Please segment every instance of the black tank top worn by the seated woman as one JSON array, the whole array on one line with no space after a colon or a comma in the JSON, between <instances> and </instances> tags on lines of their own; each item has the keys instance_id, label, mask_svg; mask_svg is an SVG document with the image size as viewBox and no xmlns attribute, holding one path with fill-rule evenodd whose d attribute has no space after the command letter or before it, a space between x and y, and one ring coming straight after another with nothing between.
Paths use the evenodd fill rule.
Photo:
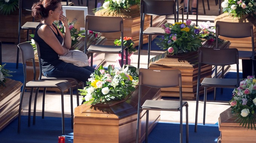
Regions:
<instances>
[{"instance_id":1,"label":"black tank top worn by the seated woman","mask_svg":"<svg viewBox=\"0 0 256 143\"><path fill-rule=\"evenodd\" d=\"M42 72L44 73L49 70L52 70L55 66L57 66L58 64L60 64L63 61L59 60L58 54L46 42L44 42L44 40L41 39L41 37L38 36L37 31L42 25L44 25L44 24L42 23L37 26L37 29L35 31L35 36L33 39L35 41L37 41L37 43L40 46ZM47 26L49 26L49 25L47 25ZM55 27L55 29L57 30L57 27L54 24L53 24L53 27ZM59 31L57 30L57 34L54 31L53 31L53 33L55 34L55 36L57 37L59 42L62 43L63 38L59 34Z\"/></svg>"}]
</instances>

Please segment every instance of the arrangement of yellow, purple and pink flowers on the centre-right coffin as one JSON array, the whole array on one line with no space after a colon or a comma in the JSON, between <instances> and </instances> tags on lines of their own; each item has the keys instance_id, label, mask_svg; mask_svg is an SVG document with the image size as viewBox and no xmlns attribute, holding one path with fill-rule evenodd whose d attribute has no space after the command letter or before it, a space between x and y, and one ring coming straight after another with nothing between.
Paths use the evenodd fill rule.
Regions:
<instances>
[{"instance_id":1,"label":"arrangement of yellow, purple and pink flowers on the centre-right coffin","mask_svg":"<svg viewBox=\"0 0 256 143\"><path fill-rule=\"evenodd\" d=\"M182 54L190 51L197 51L202 46L203 40L200 39L201 29L191 24L191 20L175 22L175 24L163 24L165 35L158 38L156 42L162 49L168 49L170 54Z\"/></svg>"}]
</instances>

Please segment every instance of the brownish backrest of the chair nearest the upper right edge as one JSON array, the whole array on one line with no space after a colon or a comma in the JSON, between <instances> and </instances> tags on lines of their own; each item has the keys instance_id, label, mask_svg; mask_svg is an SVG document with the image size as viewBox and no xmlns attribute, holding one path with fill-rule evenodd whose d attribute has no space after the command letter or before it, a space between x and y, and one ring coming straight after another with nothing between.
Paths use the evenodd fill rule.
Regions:
<instances>
[{"instance_id":1,"label":"brownish backrest of the chair nearest the upper right edge","mask_svg":"<svg viewBox=\"0 0 256 143\"><path fill-rule=\"evenodd\" d=\"M254 59L254 36L253 25L250 22L216 22L216 48L218 48L218 36L229 38L245 38L251 37L251 46Z\"/></svg>"}]
</instances>

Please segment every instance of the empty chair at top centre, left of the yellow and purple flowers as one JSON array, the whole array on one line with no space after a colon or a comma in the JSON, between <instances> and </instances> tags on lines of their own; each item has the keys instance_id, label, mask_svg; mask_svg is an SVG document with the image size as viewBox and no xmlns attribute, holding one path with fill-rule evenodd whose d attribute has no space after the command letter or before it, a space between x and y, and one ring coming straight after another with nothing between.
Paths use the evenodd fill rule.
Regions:
<instances>
[{"instance_id":1,"label":"empty chair at top centre, left of the yellow and purple flowers","mask_svg":"<svg viewBox=\"0 0 256 143\"><path fill-rule=\"evenodd\" d=\"M178 2L177 2L178 6ZM183 9L183 6L181 7ZM182 21L184 21L184 10L182 10ZM150 27L144 30L145 15L151 16ZM176 3L174 0L141 0L140 1L140 37L138 50L138 68L140 67L140 50L143 46L143 35L148 35L148 67L150 58L150 48L152 35L164 35L164 30L161 27L152 27L152 15L174 15L174 21L177 22L178 10L176 12Z\"/></svg>"}]
</instances>

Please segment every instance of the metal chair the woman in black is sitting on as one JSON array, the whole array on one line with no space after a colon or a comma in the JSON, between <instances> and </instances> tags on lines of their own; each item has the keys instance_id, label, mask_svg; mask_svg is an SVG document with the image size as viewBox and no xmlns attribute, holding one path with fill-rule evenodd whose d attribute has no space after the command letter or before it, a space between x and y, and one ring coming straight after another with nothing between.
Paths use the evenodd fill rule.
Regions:
<instances>
[{"instance_id":1,"label":"metal chair the woman in black is sitting on","mask_svg":"<svg viewBox=\"0 0 256 143\"><path fill-rule=\"evenodd\" d=\"M72 78L72 77L46 77L46 76L44 76L43 72L42 72L40 46L38 45L38 43L36 41L35 41L35 45L37 47L37 56L38 56L38 63L39 63L39 68L40 68L39 80L71 80L71 81L73 81L71 83L74 83L74 85L76 86L76 102L77 102L77 106L79 106L79 91L78 91L78 89L79 89L79 83L81 83L81 81L78 79ZM82 84L82 86L84 87L84 83ZM42 118L44 117L43 113L44 113L44 103L43 103L43 110L42 110Z\"/></svg>"}]
</instances>

